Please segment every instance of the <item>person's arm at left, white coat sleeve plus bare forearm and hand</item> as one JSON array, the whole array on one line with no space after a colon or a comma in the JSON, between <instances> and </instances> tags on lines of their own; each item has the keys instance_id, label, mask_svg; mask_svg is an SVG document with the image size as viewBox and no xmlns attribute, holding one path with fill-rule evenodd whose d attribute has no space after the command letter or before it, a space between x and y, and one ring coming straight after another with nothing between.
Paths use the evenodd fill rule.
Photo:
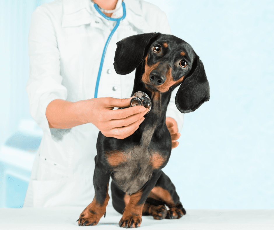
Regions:
<instances>
[{"instance_id":1,"label":"person's arm at left, white coat sleeve plus bare forearm and hand","mask_svg":"<svg viewBox=\"0 0 274 230\"><path fill-rule=\"evenodd\" d=\"M53 10L60 12L52 13ZM57 42L60 25L53 18L53 15L62 15L61 10L42 5L32 14L29 31L30 76L26 87L31 116L50 136L50 128L65 129L93 123L104 135L123 139L138 127L144 115L144 112L137 112L138 107L113 110L113 107L128 107L129 99L67 100L68 97L75 100L75 97L71 97L71 89L68 91L63 84L67 79L60 74L61 57Z\"/></svg>"}]
</instances>

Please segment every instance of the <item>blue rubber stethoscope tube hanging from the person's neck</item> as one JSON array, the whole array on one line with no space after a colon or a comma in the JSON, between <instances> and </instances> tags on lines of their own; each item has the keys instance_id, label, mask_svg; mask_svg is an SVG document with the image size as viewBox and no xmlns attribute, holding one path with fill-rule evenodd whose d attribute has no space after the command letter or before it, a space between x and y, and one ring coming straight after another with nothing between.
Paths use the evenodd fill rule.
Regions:
<instances>
[{"instance_id":1,"label":"blue rubber stethoscope tube hanging from the person's neck","mask_svg":"<svg viewBox=\"0 0 274 230\"><path fill-rule=\"evenodd\" d=\"M102 68L103 68L103 63L104 63L106 51L107 51L107 48L108 48L108 43L109 43L112 35L114 34L115 30L119 26L120 21L123 20L126 17L126 6L125 6L124 2L122 2L122 6L123 6L123 16L121 18L110 18L110 17L106 16L105 14L103 14L101 12L101 10L99 9L97 4L94 4L94 7L95 7L96 11L98 11L98 13L101 14L104 18L106 18L107 20L110 20L110 21L116 21L116 25L113 28L113 30L110 32L110 35L108 36L108 40L106 41L106 44L105 44L105 47L104 47L104 50L103 50L103 54L102 54L102 58L101 58L101 62L100 62L100 67L99 67L99 71L98 71L98 76L97 76L97 80L96 80L94 98L97 98L98 87L99 87L99 82L100 82L100 77L101 77L101 73L102 73Z\"/></svg>"}]
</instances>

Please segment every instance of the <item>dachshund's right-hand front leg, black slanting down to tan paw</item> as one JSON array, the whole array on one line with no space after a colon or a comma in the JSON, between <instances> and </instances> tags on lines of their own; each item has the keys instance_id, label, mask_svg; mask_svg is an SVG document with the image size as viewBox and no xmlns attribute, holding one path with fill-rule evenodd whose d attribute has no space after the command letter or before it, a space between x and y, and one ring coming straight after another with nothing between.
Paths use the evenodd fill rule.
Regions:
<instances>
[{"instance_id":1,"label":"dachshund's right-hand front leg, black slanting down to tan paw","mask_svg":"<svg viewBox=\"0 0 274 230\"><path fill-rule=\"evenodd\" d=\"M150 194L150 191L155 186L161 172L153 173L148 182L145 183L142 189L132 195L126 194L124 197L125 209L123 216L119 222L119 226L123 228L138 228L142 222L143 206Z\"/></svg>"}]
</instances>

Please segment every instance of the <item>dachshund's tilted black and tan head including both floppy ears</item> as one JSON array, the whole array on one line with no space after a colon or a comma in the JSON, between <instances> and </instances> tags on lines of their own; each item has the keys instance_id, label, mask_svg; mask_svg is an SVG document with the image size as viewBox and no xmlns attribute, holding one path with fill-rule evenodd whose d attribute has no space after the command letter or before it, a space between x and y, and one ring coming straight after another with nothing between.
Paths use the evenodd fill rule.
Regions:
<instances>
[{"instance_id":1,"label":"dachshund's tilted black and tan head including both floppy ears","mask_svg":"<svg viewBox=\"0 0 274 230\"><path fill-rule=\"evenodd\" d=\"M138 34L117 42L114 68L129 74L141 63L142 81L150 91L165 93L180 88L175 104L181 113L198 109L209 100L205 69L193 48L182 39L160 33Z\"/></svg>"}]
</instances>

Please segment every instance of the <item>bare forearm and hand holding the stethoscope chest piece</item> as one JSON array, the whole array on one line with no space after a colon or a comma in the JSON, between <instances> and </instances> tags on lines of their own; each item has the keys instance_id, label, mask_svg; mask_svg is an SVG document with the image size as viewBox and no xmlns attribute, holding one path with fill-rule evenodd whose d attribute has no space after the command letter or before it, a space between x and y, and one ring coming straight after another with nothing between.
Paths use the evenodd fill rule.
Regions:
<instances>
[{"instance_id":1,"label":"bare forearm and hand holding the stethoscope chest piece","mask_svg":"<svg viewBox=\"0 0 274 230\"><path fill-rule=\"evenodd\" d=\"M124 139L133 134L144 121L148 109L129 107L130 98L92 98L78 102L56 99L48 104L46 117L50 128L72 128L93 123L106 137ZM129 107L115 109L114 107Z\"/></svg>"}]
</instances>

